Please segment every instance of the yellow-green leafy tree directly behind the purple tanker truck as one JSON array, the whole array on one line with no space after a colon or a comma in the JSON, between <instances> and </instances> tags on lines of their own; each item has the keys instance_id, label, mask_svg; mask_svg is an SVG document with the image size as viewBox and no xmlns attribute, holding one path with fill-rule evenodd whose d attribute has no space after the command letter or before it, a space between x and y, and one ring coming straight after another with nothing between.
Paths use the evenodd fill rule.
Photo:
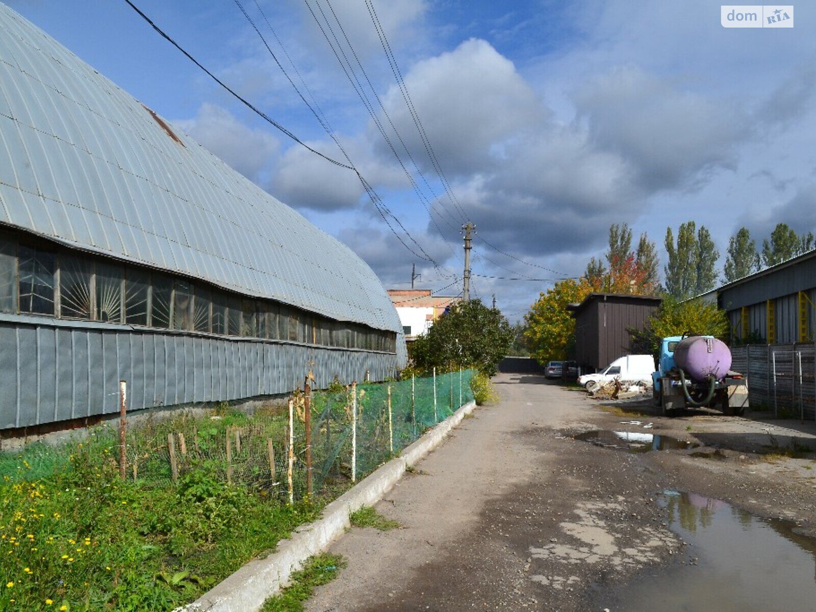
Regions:
<instances>
[{"instance_id":1,"label":"yellow-green leafy tree directly behind the purple tanker truck","mask_svg":"<svg viewBox=\"0 0 816 612\"><path fill-rule=\"evenodd\" d=\"M730 323L725 311L712 302L690 299L680 302L667 297L643 330L629 330L632 353L658 355L660 339L672 335L712 335L727 340Z\"/></svg>"}]
</instances>

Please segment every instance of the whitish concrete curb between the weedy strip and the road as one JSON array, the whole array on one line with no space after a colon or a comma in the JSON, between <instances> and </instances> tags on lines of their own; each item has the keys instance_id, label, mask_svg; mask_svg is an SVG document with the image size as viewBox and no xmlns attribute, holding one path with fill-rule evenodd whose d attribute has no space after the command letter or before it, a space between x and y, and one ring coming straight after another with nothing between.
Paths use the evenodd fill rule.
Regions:
<instances>
[{"instance_id":1,"label":"whitish concrete curb between the weedy strip and the road","mask_svg":"<svg viewBox=\"0 0 816 612\"><path fill-rule=\"evenodd\" d=\"M351 490L339 496L323 509L322 518L300 526L290 539L281 540L277 552L265 559L255 559L215 585L192 604L178 610L201 612L255 612L269 596L286 586L290 575L299 570L308 557L324 550L350 523L348 515L370 506L391 490L406 471L436 448L464 417L472 412L476 402L469 401L453 415L428 430L419 440L407 446L402 454L380 466Z\"/></svg>"}]
</instances>

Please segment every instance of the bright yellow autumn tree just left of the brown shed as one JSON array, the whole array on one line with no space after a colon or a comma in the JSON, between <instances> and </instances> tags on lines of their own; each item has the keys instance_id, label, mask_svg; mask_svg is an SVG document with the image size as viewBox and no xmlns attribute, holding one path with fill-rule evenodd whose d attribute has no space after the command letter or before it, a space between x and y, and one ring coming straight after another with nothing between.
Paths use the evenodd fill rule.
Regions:
<instances>
[{"instance_id":1,"label":"bright yellow autumn tree just left of the brown shed","mask_svg":"<svg viewBox=\"0 0 816 612\"><path fill-rule=\"evenodd\" d=\"M526 336L530 354L539 363L567 358L575 339L575 319L566 305L582 301L591 291L587 282L559 281L530 307Z\"/></svg>"}]
</instances>

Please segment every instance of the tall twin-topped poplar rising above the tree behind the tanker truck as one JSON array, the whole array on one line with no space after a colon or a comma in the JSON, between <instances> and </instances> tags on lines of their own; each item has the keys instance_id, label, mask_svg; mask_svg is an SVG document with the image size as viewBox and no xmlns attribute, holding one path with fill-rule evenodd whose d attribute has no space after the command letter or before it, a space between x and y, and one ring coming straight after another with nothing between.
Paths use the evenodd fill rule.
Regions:
<instances>
[{"instance_id":1,"label":"tall twin-topped poplar rising above the tree behind the tanker truck","mask_svg":"<svg viewBox=\"0 0 816 612\"><path fill-rule=\"evenodd\" d=\"M666 228L666 252L668 262L666 290L676 299L688 299L712 290L716 284L716 260L720 253L712 241L711 233L703 225L697 230L694 221L687 221L677 229L677 243L672 228Z\"/></svg>"}]
</instances>

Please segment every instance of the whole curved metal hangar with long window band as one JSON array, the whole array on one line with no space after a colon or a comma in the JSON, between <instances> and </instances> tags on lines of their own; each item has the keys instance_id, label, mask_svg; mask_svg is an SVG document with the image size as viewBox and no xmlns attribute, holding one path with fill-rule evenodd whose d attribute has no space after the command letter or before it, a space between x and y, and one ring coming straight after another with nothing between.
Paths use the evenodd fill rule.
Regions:
<instances>
[{"instance_id":1,"label":"whole curved metal hangar with long window band","mask_svg":"<svg viewBox=\"0 0 816 612\"><path fill-rule=\"evenodd\" d=\"M347 246L0 4L0 430L405 360Z\"/></svg>"}]
</instances>

